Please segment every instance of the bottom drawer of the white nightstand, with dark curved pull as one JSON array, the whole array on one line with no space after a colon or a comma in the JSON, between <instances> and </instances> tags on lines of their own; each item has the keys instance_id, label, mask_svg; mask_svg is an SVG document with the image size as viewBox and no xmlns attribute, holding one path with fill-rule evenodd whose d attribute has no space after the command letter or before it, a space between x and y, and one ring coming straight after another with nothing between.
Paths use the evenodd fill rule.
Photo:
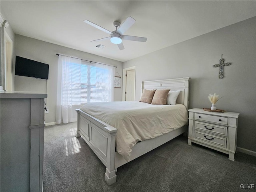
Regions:
<instances>
[{"instance_id":1,"label":"bottom drawer of the white nightstand, with dark curved pull","mask_svg":"<svg viewBox=\"0 0 256 192\"><path fill-rule=\"evenodd\" d=\"M227 138L218 137L212 134L203 133L195 130L195 139L203 140L204 142L208 142L214 145L218 145L220 147L226 148L227 145Z\"/></svg>"}]
</instances>

